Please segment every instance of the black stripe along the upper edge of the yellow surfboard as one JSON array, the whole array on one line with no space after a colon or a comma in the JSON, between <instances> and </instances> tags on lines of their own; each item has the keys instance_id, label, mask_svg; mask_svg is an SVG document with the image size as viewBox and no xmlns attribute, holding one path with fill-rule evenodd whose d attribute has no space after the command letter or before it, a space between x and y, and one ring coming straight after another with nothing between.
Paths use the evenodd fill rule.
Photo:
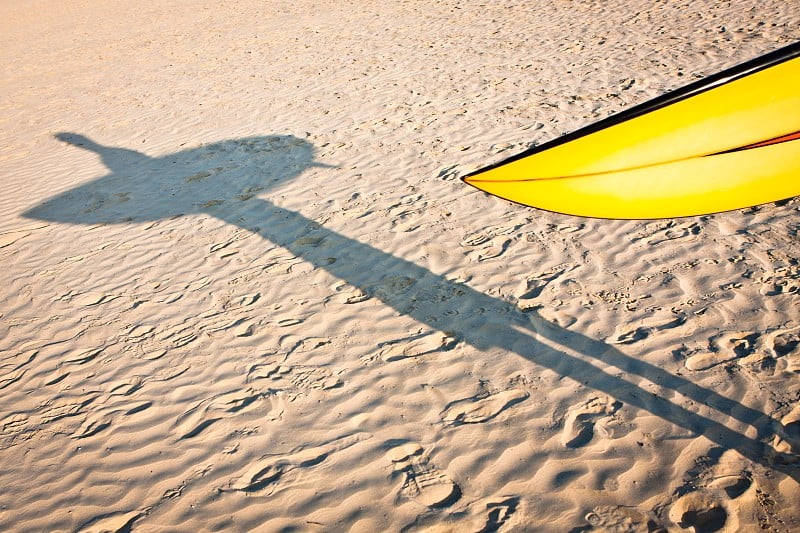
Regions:
<instances>
[{"instance_id":1,"label":"black stripe along the upper edge of the yellow surfboard","mask_svg":"<svg viewBox=\"0 0 800 533\"><path fill-rule=\"evenodd\" d=\"M567 133L566 135L558 137L557 139L553 139L538 146L533 146L531 148L528 148L527 150L520 152L516 155L513 155L509 158L506 158L502 161L491 164L474 172L470 172L466 176L463 176L461 179L467 179L477 174L482 174L484 172L488 172L489 170L501 167L508 163L518 161L530 155L537 154L539 152L544 152L545 150L549 150L550 148L566 144L580 137L585 137L586 135L606 129L615 124L619 124L621 122L625 122L632 118L645 115L657 109L661 109L662 107L666 107L676 102L680 102L681 100L685 100L686 98L692 97L696 94L700 94L702 92L711 90L714 87L719 87L720 85L730 83L739 78L743 78L749 74L754 74L760 70L764 70L766 68L778 65L785 61L789 61L790 59L794 59L796 57L800 57L800 42L790 44L789 46L779 48L778 50L774 50L763 56L751 59L749 61L746 61L729 69L723 70L722 72L712 74L701 80L690 83L689 85L675 89L668 93L662 94L661 96L653 98L652 100L648 100L647 102L631 107L630 109L626 109L625 111L622 111L615 115L611 115L608 118L604 118L598 122L589 124L588 126L577 129L571 133ZM755 148L755 146L751 147ZM738 149L744 149L744 147Z\"/></svg>"}]
</instances>

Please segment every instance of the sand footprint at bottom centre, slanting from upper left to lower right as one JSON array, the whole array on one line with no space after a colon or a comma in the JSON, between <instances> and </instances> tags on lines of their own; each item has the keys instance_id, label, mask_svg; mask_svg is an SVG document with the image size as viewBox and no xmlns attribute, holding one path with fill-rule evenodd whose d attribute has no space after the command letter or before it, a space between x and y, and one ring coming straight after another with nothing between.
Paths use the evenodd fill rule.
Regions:
<instances>
[{"instance_id":1,"label":"sand footprint at bottom centre, slanting from upper left to lower right","mask_svg":"<svg viewBox=\"0 0 800 533\"><path fill-rule=\"evenodd\" d=\"M461 488L434 468L419 444L407 442L389 450L394 471L403 475L400 493L430 508L447 507L461 498Z\"/></svg>"}]
</instances>

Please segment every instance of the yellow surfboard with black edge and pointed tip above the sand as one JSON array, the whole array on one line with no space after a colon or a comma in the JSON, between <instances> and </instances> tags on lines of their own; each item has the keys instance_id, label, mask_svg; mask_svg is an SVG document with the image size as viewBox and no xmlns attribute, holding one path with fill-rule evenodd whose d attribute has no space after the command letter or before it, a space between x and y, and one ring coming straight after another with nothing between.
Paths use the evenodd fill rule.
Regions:
<instances>
[{"instance_id":1,"label":"yellow surfboard with black edge and pointed tip above the sand","mask_svg":"<svg viewBox=\"0 0 800 533\"><path fill-rule=\"evenodd\" d=\"M699 215L800 195L800 43L463 179L598 218Z\"/></svg>"}]
</instances>

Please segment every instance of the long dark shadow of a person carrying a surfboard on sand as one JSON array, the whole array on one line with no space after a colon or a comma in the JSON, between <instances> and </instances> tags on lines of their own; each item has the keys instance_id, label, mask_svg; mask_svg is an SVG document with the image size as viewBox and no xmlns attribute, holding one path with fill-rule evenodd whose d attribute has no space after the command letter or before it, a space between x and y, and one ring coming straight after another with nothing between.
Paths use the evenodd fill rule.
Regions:
<instances>
[{"instance_id":1,"label":"long dark shadow of a person carrying a surfboard on sand","mask_svg":"<svg viewBox=\"0 0 800 533\"><path fill-rule=\"evenodd\" d=\"M551 324L535 311L523 312L509 302L256 196L310 167L320 166L314 160L314 147L305 140L293 136L250 137L149 157L103 146L74 133L60 133L57 138L99 155L111 172L29 209L26 217L112 224L205 213L241 226L246 209L249 230L398 313L480 351L499 348L517 354L623 404L703 435L723 450L737 450L797 479L797 470L790 464L796 458L777 453L767 444L774 435L784 435L782 425L768 415L613 346ZM631 380L646 380L671 391L673 398L682 396L687 403L707 405L722 419L732 417L751 426L756 436L735 431Z\"/></svg>"}]
</instances>

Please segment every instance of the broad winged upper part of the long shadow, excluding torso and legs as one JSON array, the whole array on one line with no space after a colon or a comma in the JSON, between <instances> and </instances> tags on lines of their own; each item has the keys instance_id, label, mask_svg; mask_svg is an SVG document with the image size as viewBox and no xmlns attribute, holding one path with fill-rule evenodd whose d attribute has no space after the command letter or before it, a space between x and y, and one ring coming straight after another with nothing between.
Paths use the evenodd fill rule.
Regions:
<instances>
[{"instance_id":1,"label":"broad winged upper part of the long shadow, excluding torso and legs","mask_svg":"<svg viewBox=\"0 0 800 533\"><path fill-rule=\"evenodd\" d=\"M55 138L95 153L109 172L27 210L25 217L113 224L219 214L310 167L326 166L314 161L311 143L291 135L231 139L159 157L104 146L76 133Z\"/></svg>"}]
</instances>

